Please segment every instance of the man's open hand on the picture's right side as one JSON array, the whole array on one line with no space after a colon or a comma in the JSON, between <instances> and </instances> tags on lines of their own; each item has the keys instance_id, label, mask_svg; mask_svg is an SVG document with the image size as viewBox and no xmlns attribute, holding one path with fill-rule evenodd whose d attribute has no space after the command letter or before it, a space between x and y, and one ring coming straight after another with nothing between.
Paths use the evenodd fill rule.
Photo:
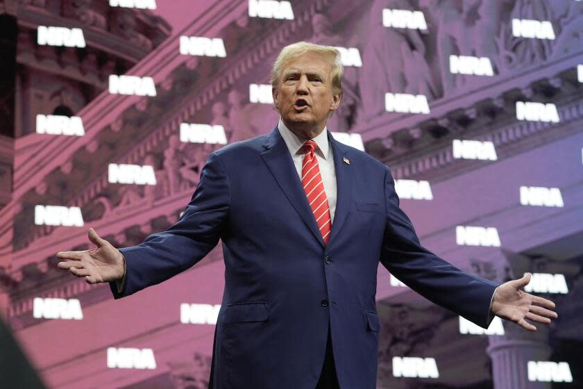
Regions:
<instances>
[{"instance_id":1,"label":"man's open hand on the picture's right side","mask_svg":"<svg viewBox=\"0 0 583 389\"><path fill-rule=\"evenodd\" d=\"M492 312L529 331L536 331L536 326L526 320L549 324L550 320L556 319L558 315L555 311L550 311L555 308L554 302L522 290L529 282L530 273L526 273L521 279L498 286L492 300Z\"/></svg>"}]
</instances>

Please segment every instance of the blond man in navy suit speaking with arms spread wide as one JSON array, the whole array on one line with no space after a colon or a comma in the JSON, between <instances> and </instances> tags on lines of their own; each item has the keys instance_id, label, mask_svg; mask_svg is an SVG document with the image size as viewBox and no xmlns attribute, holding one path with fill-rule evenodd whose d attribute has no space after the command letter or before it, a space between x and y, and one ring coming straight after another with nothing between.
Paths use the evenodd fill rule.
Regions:
<instances>
[{"instance_id":1,"label":"blond man in navy suit speaking with arms spread wide","mask_svg":"<svg viewBox=\"0 0 583 389\"><path fill-rule=\"evenodd\" d=\"M336 49L285 47L271 74L281 116L271 133L211 154L167 231L118 251L90 229L97 247L58 253L67 260L58 267L110 282L117 299L186 270L221 238L226 285L212 388L374 388L379 260L483 327L498 315L534 331L525 319L557 317L551 301L521 291L530 275L496 288L420 245L389 169L326 129L341 76Z\"/></svg>"}]
</instances>

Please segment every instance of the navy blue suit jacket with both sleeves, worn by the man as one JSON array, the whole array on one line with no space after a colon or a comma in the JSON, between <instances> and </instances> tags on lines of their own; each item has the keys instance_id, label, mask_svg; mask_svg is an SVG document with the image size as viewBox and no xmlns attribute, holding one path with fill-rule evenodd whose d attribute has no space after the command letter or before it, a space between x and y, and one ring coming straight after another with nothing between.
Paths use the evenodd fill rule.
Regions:
<instances>
[{"instance_id":1,"label":"navy blue suit jacket with both sleeves, worn by the man","mask_svg":"<svg viewBox=\"0 0 583 389\"><path fill-rule=\"evenodd\" d=\"M126 283L121 293L111 284L115 298L188 269L222 240L211 388L314 389L328 325L341 387L375 388L379 261L434 303L489 324L497 284L422 247L387 166L328 139L337 178L328 245L276 128L211 154L180 220L121 249Z\"/></svg>"}]
</instances>

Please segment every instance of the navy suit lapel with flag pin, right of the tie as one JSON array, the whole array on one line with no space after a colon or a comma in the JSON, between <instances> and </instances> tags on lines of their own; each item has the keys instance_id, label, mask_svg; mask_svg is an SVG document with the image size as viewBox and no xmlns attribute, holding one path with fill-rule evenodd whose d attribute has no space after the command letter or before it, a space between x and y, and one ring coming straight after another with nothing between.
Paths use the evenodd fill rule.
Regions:
<instances>
[{"instance_id":1,"label":"navy suit lapel with flag pin, right of the tie","mask_svg":"<svg viewBox=\"0 0 583 389\"><path fill-rule=\"evenodd\" d=\"M332 147L336 172L336 210L332 221L330 240L328 240L328 245L330 245L339 234L339 230L350 210L350 204L353 199L352 174L354 168L348 165L350 163L348 148L335 140L330 132L328 132L328 141L330 142L330 147ZM348 160L348 163L344 162L344 158Z\"/></svg>"}]
</instances>

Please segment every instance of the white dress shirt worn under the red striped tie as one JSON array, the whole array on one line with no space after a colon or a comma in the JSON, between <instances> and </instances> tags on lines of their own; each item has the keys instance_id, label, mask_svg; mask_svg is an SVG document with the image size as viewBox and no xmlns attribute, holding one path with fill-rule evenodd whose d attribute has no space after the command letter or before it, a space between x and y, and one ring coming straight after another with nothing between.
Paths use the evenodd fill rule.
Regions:
<instances>
[{"instance_id":1,"label":"white dress shirt worn under the red striped tie","mask_svg":"<svg viewBox=\"0 0 583 389\"><path fill-rule=\"evenodd\" d=\"M292 160L294 160L294 165L296 165L296 170L298 171L298 176L301 181L302 163L306 154L302 146L307 139L300 138L288 129L281 118L278 123L278 130L287 145L289 154L292 154ZM332 147L330 147L330 142L328 142L328 131L326 131L326 127L324 127L324 130L312 140L318 145L318 149L316 149L316 159L318 160L320 175L322 176L322 182L324 184L324 191L326 191L326 197L328 197L330 220L334 222L334 212L336 210L336 170L334 167L334 158L332 158Z\"/></svg>"}]
</instances>

